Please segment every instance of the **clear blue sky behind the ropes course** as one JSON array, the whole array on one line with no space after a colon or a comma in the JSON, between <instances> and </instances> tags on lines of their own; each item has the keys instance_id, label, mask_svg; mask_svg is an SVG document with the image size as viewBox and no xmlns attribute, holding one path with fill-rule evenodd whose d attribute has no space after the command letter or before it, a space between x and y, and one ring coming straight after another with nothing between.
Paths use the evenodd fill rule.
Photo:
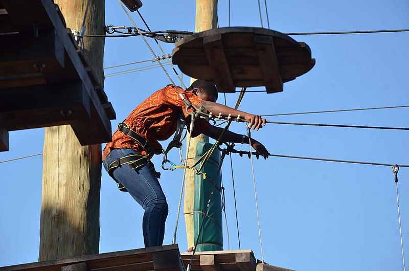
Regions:
<instances>
[{"instance_id":1,"label":"clear blue sky behind the ropes course","mask_svg":"<svg viewBox=\"0 0 409 271\"><path fill-rule=\"evenodd\" d=\"M152 30L194 31L194 1L144 1L141 13ZM267 27L264 3L263 24ZM270 29L283 33L408 29L403 0L328 2L267 0ZM141 28L138 14L132 14ZM228 2L219 1L219 26L229 25ZM131 26L117 1L106 1L106 24ZM257 1L231 1L231 26L260 27ZM408 105L409 33L292 36L306 42L313 69L284 84L277 94L247 93L239 109L259 115ZM162 55L149 40L156 55ZM166 53L174 45L161 43ZM152 59L140 37L107 38L104 66ZM123 71L151 64L120 67ZM106 70L111 72L111 70ZM168 69L173 80L177 77ZM184 76L185 84L190 78ZM151 69L108 77L105 92L117 112L112 127L152 92L170 83ZM263 87L249 88L248 91ZM233 106L236 94L226 95ZM223 95L218 102L224 103ZM409 127L407 108L267 117L269 121ZM245 133L243 124L231 130ZM10 132L10 151L0 161L42 152L44 129ZM253 137L274 154L409 164L408 131L270 124ZM164 143L163 145L166 145ZM186 144L185 144L186 145ZM238 146L243 147L243 146ZM245 146L247 147L247 145ZM247 149L247 148L245 148ZM177 151L169 156L178 161ZM160 157L154 162L160 165ZM228 162L228 161L226 161ZM230 163L224 163L230 249L239 249ZM270 157L254 161L264 260L297 270L402 270L394 175L390 167ZM157 166L157 169L160 166ZM251 164L233 155L241 249L261 259ZM38 259L42 156L1 163L0 266ZM160 179L168 199L165 244L172 242L181 171ZM403 244L409 253L409 169L400 168ZM143 247L142 208L102 172L100 252ZM224 221L223 221L224 223ZM224 227L224 249L228 237ZM121 234L120 234L121 233ZM184 218L177 242L187 249Z\"/></svg>"}]
</instances>

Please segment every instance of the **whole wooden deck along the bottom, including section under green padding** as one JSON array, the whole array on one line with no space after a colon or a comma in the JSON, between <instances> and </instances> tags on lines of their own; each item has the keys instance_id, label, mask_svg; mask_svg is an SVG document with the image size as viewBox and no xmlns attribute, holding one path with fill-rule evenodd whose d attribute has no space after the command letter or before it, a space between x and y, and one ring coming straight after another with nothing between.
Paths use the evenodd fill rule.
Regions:
<instances>
[{"instance_id":1,"label":"whole wooden deck along the bottom, including section under green padding","mask_svg":"<svg viewBox=\"0 0 409 271\"><path fill-rule=\"evenodd\" d=\"M177 244L0 267L0 271L186 271L192 252ZM293 271L256 260L251 250L195 253L191 271Z\"/></svg>"}]
</instances>

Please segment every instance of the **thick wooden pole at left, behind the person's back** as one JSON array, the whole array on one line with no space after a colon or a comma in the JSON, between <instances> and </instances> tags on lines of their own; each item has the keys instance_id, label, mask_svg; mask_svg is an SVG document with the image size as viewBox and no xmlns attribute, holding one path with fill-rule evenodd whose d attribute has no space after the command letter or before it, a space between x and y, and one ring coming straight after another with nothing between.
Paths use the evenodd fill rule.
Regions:
<instances>
[{"instance_id":1,"label":"thick wooden pole at left, behind the person's back","mask_svg":"<svg viewBox=\"0 0 409 271\"><path fill-rule=\"evenodd\" d=\"M80 31L87 0L55 0L67 27ZM86 34L105 33L105 0L90 0ZM85 57L100 83L103 38L84 38ZM97 254L101 145L81 146L71 126L46 128L39 261Z\"/></svg>"}]
</instances>

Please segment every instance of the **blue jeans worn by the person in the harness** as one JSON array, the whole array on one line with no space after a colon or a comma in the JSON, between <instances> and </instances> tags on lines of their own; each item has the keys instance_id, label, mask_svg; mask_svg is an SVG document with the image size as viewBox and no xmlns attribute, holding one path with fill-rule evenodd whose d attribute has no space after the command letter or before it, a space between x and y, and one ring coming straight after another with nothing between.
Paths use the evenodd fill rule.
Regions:
<instances>
[{"instance_id":1,"label":"blue jeans worn by the person in the harness","mask_svg":"<svg viewBox=\"0 0 409 271\"><path fill-rule=\"evenodd\" d=\"M113 161L130 154L139 153L132 149L113 149L103 161L105 170L108 171ZM156 176L148 165L138 169L122 165L113 171L113 176L145 210L142 221L145 247L162 245L168 204Z\"/></svg>"}]
</instances>

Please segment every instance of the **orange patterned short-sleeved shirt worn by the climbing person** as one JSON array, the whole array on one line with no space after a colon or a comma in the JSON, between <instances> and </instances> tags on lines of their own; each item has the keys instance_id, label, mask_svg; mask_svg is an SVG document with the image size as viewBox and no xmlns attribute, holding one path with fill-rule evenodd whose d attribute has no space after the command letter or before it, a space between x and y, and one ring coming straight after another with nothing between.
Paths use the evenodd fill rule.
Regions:
<instances>
[{"instance_id":1,"label":"orange patterned short-sleeved shirt worn by the climbing person","mask_svg":"<svg viewBox=\"0 0 409 271\"><path fill-rule=\"evenodd\" d=\"M177 87L185 98L195 106L203 101L201 98L183 88ZM125 123L133 131L139 133L153 148L162 148L158 140L167 140L176 131L177 117L179 110L183 110L186 123L190 123L190 115L185 111L185 104L177 92L176 86L167 85L159 91L153 93L148 99L143 101L125 119ZM203 118L195 120L192 137L196 137L202 131L209 128L210 123ZM128 135L116 130L112 135L112 142L108 142L102 154L102 160L112 149L129 148L146 154L143 147L137 144Z\"/></svg>"}]
</instances>

